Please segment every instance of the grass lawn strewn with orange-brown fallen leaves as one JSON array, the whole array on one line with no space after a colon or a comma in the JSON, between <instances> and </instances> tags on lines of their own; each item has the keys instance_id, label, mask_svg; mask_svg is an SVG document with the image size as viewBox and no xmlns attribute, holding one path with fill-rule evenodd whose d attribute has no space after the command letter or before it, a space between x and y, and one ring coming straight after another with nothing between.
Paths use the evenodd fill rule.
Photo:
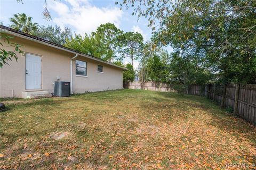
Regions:
<instances>
[{"instance_id":1,"label":"grass lawn strewn with orange-brown fallen leaves","mask_svg":"<svg viewBox=\"0 0 256 170\"><path fill-rule=\"evenodd\" d=\"M255 126L203 97L127 89L2 102L0 169L256 164Z\"/></svg>"}]
</instances>

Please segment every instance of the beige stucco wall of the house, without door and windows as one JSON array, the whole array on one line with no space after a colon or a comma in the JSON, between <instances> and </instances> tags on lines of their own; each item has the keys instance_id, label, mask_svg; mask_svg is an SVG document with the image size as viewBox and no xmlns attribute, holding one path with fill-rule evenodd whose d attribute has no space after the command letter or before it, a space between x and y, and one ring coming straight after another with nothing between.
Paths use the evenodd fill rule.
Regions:
<instances>
[{"instance_id":1,"label":"beige stucco wall of the house, without door and windows","mask_svg":"<svg viewBox=\"0 0 256 170\"><path fill-rule=\"evenodd\" d=\"M22 50L26 53L42 56L42 91L53 92L57 77L60 77L60 81L70 81L70 58L75 54L19 37L14 37L12 42L23 45ZM2 39L1 43L3 43ZM13 47L5 46L4 49L13 50ZM74 93L123 88L121 69L83 56L78 55L77 58L87 62L87 77L75 75L75 61L73 61ZM22 91L31 91L25 89L25 55L19 54L18 62L14 60L8 63L9 65L4 65L0 69L0 98L12 97L12 90L14 97L21 97ZM98 64L103 65L103 73L97 72Z\"/></svg>"}]
</instances>

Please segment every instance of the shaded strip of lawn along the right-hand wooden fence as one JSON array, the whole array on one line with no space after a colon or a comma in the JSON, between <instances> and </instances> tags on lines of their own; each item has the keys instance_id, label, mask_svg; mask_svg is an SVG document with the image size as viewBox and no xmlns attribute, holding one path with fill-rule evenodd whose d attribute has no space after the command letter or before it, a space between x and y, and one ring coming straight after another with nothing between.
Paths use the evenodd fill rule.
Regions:
<instances>
[{"instance_id":1,"label":"shaded strip of lawn along the right-hand wooden fence","mask_svg":"<svg viewBox=\"0 0 256 170\"><path fill-rule=\"evenodd\" d=\"M253 146L256 147L256 126L247 122L241 117L234 115L232 113L226 112L224 109L221 109L220 106L212 103L211 100L206 99L201 96L193 95L184 95L161 92L159 95L164 96L160 102L168 101L168 98L175 98L176 104L165 104L167 107L174 107L175 109L180 109L182 111L193 111L194 109L201 109L211 116L211 121L205 122L207 125L215 126L221 131L226 131L227 133L233 133L234 137L239 137L243 135L246 139L250 140L253 143ZM159 107L159 104L148 104L145 105L145 108L149 108L151 111ZM164 105L163 105L164 106ZM172 114L173 115L173 114ZM174 115L175 116L175 115Z\"/></svg>"}]
</instances>

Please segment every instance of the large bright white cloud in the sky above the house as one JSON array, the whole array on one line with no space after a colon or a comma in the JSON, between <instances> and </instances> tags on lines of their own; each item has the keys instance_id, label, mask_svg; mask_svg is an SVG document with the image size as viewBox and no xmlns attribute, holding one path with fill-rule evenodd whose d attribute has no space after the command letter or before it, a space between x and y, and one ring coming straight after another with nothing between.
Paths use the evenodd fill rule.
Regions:
<instances>
[{"instance_id":1,"label":"large bright white cloud in the sky above the house","mask_svg":"<svg viewBox=\"0 0 256 170\"><path fill-rule=\"evenodd\" d=\"M82 35L95 31L100 24L114 23L119 27L123 12L117 7L97 7L88 0L49 1L49 8L58 16L53 22L61 28L73 27L76 33Z\"/></svg>"}]
</instances>

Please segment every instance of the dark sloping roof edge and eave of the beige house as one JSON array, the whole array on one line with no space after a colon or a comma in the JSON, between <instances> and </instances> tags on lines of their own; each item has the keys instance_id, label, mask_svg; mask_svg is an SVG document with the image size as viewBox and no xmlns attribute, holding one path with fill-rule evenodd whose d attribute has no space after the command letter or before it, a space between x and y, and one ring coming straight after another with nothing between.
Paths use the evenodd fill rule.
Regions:
<instances>
[{"instance_id":1,"label":"dark sloping roof edge and eave of the beige house","mask_svg":"<svg viewBox=\"0 0 256 170\"><path fill-rule=\"evenodd\" d=\"M42 38L39 38L39 37L36 37L36 36L29 35L25 32L21 32L21 31L14 30L14 29L9 28L9 27L5 27L4 25L0 25L0 31L1 32L6 32L6 33L8 33L10 35L13 35L13 36L17 36L17 37L25 38L25 39L28 39L28 40L31 40L31 41L35 41L37 43L44 44L46 46L50 46L50 47L57 48L57 49L60 49L60 50L65 50L65 51L73 53L73 54L78 54L80 56L90 58L91 60L95 60L95 61L98 61L100 63L105 63L105 64L108 64L108 65L117 67L119 69L122 69L122 70L127 70L124 67L117 66L117 65L112 64L108 61L102 60L101 58L97 58L97 57L94 57L92 55L84 54L84 53L79 52L77 50L74 50L74 49L71 49L71 48L53 43L51 41L48 41L48 40L45 40L45 39L42 39Z\"/></svg>"}]
</instances>

